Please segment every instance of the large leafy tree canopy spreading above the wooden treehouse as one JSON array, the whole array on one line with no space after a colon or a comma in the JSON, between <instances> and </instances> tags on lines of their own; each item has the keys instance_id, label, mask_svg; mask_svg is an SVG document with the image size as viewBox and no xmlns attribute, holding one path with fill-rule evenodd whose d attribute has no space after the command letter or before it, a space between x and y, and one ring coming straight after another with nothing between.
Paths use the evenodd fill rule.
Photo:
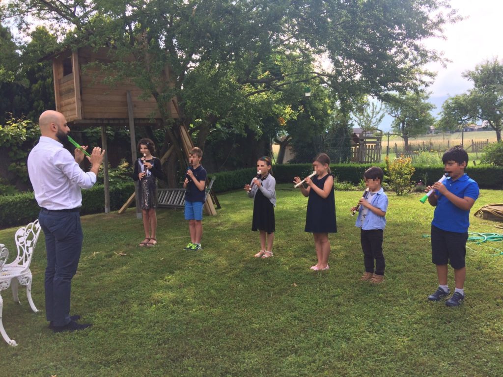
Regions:
<instances>
[{"instance_id":1,"label":"large leafy tree canopy spreading above the wooden treehouse","mask_svg":"<svg viewBox=\"0 0 503 377\"><path fill-rule=\"evenodd\" d=\"M256 97L260 101L262 93L286 85L318 80L331 89L334 102L350 103L424 84L424 65L439 55L421 41L454 20L449 9L443 0L12 0L3 13L16 16L20 30L29 23L25 15L50 21L55 35L71 30L63 43L72 47L106 45L118 57L133 55L112 72L156 99L166 131L163 150L179 150L166 112L173 96L180 108L175 123L204 147L222 125L241 132L249 122L260 133L261 117L252 107ZM317 54L331 60L331 72L312 70ZM269 70L271 63L277 69ZM172 83L163 80L166 66Z\"/></svg>"}]
</instances>

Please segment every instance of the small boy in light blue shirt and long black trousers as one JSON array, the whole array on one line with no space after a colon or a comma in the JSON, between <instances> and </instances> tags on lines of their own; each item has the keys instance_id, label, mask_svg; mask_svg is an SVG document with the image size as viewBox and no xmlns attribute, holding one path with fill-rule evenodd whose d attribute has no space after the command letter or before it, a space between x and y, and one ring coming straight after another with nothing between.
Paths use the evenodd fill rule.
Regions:
<instances>
[{"instance_id":1,"label":"small boy in light blue shirt and long black trousers","mask_svg":"<svg viewBox=\"0 0 503 377\"><path fill-rule=\"evenodd\" d=\"M384 172L378 166L372 166L363 173L365 185L369 189L367 197L360 199L356 226L360 230L360 242L363 250L365 273L361 281L370 281L372 284L380 284L384 280L384 255L382 253L382 241L384 227L386 226L386 211L388 209L388 197L384 194L381 182ZM351 209L356 211L356 207ZM375 260L375 269L374 269Z\"/></svg>"}]
</instances>

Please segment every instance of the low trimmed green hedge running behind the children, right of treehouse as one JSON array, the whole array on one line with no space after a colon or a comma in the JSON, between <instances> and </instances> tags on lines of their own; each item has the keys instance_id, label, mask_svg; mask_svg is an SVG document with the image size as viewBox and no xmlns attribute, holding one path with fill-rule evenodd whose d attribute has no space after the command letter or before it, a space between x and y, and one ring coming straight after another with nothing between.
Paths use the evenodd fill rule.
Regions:
<instances>
[{"instance_id":1,"label":"low trimmed green hedge running behind the children, right of treehouse","mask_svg":"<svg viewBox=\"0 0 503 377\"><path fill-rule=\"evenodd\" d=\"M363 173L371 166L380 166L385 168L384 163L379 164L332 164L331 172L337 176L339 181L347 181L358 184L363 177ZM444 166L414 166L415 172L412 175L412 181L416 182L424 179L428 174L428 184L432 184L442 176ZM312 172L311 164L284 164L273 167L273 175L277 183L293 182L294 176L301 178ZM481 189L503 189L503 167L500 166L469 166L466 169L468 175L478 182ZM221 173L210 173L209 176L215 177L213 189L216 193L222 193L230 190L241 189L246 183L251 181L257 174L254 168L225 171Z\"/></svg>"}]
</instances>

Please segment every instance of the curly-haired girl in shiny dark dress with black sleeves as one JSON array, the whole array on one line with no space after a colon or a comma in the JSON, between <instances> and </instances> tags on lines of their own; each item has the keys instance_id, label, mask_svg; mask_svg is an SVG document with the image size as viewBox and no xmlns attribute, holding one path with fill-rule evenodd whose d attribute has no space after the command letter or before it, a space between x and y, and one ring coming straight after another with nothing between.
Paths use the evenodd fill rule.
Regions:
<instances>
[{"instance_id":1,"label":"curly-haired girl in shiny dark dress with black sleeves","mask_svg":"<svg viewBox=\"0 0 503 377\"><path fill-rule=\"evenodd\" d=\"M143 218L143 230L145 239L139 243L140 247L154 246L157 244L155 230L157 228L157 217L155 208L157 207L157 183L155 178L162 179L162 167L160 160L152 154L155 146L152 140L144 138L138 142L137 146L140 155L134 164L133 179L139 181L138 199Z\"/></svg>"}]
</instances>

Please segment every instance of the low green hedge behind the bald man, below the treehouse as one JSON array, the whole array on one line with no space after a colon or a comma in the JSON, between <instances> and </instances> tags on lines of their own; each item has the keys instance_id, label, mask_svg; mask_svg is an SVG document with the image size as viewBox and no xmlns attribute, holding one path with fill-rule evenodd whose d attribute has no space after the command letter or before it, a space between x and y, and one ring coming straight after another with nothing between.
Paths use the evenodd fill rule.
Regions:
<instances>
[{"instance_id":1,"label":"low green hedge behind the bald man, below the treehouse","mask_svg":"<svg viewBox=\"0 0 503 377\"><path fill-rule=\"evenodd\" d=\"M117 183L110 187L110 209L118 210L134 193L134 183ZM105 195L103 185L95 185L90 190L82 190L81 214L103 212ZM40 208L33 193L0 196L0 228L21 226L38 218Z\"/></svg>"}]
</instances>

